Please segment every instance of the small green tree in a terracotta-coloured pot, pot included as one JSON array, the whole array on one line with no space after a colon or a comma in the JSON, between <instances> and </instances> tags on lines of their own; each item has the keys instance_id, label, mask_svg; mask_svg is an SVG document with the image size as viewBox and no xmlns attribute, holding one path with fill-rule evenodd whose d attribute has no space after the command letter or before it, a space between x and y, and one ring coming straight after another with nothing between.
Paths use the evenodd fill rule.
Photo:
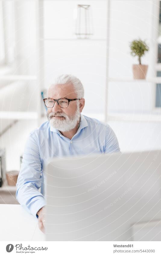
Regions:
<instances>
[{"instance_id":1,"label":"small green tree in a terracotta-coloured pot, pot included","mask_svg":"<svg viewBox=\"0 0 161 256\"><path fill-rule=\"evenodd\" d=\"M132 66L133 69L133 77L134 79L145 79L147 74L148 65L141 64L141 57L149 50L149 47L142 40L133 40L130 43L131 55L138 56L139 64L134 64Z\"/></svg>"}]
</instances>

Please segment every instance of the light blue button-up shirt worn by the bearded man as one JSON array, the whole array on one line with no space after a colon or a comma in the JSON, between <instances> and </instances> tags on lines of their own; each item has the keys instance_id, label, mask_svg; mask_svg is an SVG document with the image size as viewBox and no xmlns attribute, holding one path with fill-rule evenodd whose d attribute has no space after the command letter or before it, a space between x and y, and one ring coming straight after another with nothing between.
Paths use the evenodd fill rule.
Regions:
<instances>
[{"instance_id":1,"label":"light blue button-up shirt worn by the bearded man","mask_svg":"<svg viewBox=\"0 0 161 256\"><path fill-rule=\"evenodd\" d=\"M49 121L43 123L27 139L16 184L17 201L37 217L45 206L43 171L49 158L116 151L120 148L114 131L97 119L81 114L80 127L71 140L52 128Z\"/></svg>"}]
</instances>

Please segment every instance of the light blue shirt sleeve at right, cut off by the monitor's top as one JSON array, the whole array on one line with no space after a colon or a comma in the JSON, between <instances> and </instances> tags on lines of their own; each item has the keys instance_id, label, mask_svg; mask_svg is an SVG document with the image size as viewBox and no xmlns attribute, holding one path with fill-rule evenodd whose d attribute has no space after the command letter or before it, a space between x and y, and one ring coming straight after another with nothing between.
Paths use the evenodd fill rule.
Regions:
<instances>
[{"instance_id":1,"label":"light blue shirt sleeve at right, cut off by the monitor's top","mask_svg":"<svg viewBox=\"0 0 161 256\"><path fill-rule=\"evenodd\" d=\"M108 125L106 131L106 146L104 153L120 152L120 147L118 144L118 139L115 132Z\"/></svg>"}]
</instances>

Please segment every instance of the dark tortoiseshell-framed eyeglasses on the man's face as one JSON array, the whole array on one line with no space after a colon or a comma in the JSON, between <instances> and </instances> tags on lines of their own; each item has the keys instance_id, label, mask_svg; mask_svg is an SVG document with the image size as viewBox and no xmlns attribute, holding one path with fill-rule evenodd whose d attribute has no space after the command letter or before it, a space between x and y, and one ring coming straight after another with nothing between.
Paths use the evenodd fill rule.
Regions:
<instances>
[{"instance_id":1,"label":"dark tortoiseshell-framed eyeglasses on the man's face","mask_svg":"<svg viewBox=\"0 0 161 256\"><path fill-rule=\"evenodd\" d=\"M55 102L57 102L58 106L60 106L61 108L67 108L69 105L69 102L73 100L80 100L80 99L58 99L58 100L43 99L45 106L47 108L53 108L53 106L55 105Z\"/></svg>"}]
</instances>

